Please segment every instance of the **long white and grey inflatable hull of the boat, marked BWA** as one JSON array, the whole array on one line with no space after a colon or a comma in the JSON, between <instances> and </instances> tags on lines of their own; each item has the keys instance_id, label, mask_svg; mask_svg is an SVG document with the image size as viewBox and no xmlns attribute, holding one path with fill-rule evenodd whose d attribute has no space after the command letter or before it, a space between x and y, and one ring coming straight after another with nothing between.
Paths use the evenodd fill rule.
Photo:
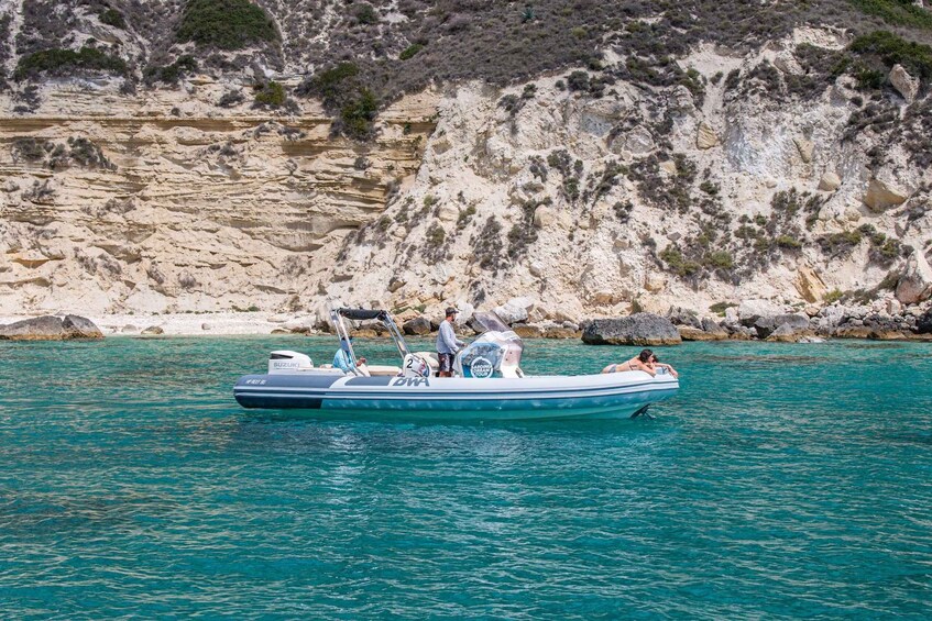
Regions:
<instances>
[{"instance_id":1,"label":"long white and grey inflatable hull of the boat, marked BWA","mask_svg":"<svg viewBox=\"0 0 932 621\"><path fill-rule=\"evenodd\" d=\"M533 420L627 418L676 395L668 375L643 372L524 378L248 375L233 390L245 408L313 418Z\"/></svg>"}]
</instances>

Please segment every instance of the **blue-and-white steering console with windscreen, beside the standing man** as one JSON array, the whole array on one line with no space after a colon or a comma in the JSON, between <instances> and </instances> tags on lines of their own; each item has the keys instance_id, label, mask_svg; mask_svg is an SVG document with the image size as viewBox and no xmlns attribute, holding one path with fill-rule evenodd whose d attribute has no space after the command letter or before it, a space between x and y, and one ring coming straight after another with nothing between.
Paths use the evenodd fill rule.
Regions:
<instances>
[{"instance_id":1,"label":"blue-and-white steering console with windscreen, beside the standing man","mask_svg":"<svg viewBox=\"0 0 932 621\"><path fill-rule=\"evenodd\" d=\"M520 336L493 313L478 312L476 323L485 328L475 341L457 355L453 369L461 377L524 377L520 357L524 343Z\"/></svg>"}]
</instances>

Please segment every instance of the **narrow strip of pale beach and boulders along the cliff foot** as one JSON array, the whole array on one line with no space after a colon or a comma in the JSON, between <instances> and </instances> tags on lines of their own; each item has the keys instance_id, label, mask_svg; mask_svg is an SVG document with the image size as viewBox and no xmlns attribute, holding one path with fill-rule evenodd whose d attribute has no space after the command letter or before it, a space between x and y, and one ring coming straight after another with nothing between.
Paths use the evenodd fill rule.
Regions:
<instances>
[{"instance_id":1,"label":"narrow strip of pale beach and boulders along the cliff foot","mask_svg":"<svg viewBox=\"0 0 932 621\"><path fill-rule=\"evenodd\" d=\"M531 307L530 309L527 307ZM690 341L766 341L771 343L812 343L826 339L867 339L878 341L932 342L932 300L902 304L896 298L867 304L832 304L804 308L768 300L746 300L721 309L714 315L692 310L670 309L665 315L633 313L621 318L573 321L529 321L534 307L529 299L515 298L492 309L523 339L582 339L588 344L673 345ZM478 333L473 309L463 306L458 331ZM396 315L408 336L429 336L437 332L440 318L407 311ZM100 339L105 335L262 335L330 333L319 314L262 312L177 313L153 315L101 315L85 319L66 314L41 318L0 317L0 340ZM360 337L386 336L381 323L363 322L355 326Z\"/></svg>"}]
</instances>

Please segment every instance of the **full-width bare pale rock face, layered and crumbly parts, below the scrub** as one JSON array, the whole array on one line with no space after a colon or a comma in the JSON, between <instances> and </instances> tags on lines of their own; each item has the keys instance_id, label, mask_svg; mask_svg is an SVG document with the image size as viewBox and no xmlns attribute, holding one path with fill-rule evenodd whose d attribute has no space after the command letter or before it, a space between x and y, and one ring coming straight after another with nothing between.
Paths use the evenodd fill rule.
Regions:
<instances>
[{"instance_id":1,"label":"full-width bare pale rock face, layered and crumbly parts, below the scrub","mask_svg":"<svg viewBox=\"0 0 932 621\"><path fill-rule=\"evenodd\" d=\"M408 96L370 143L331 137L310 100L220 108L248 86L229 77L46 80L28 112L3 93L0 313L343 303L404 321L520 299L515 321L561 325L858 290L921 303L928 89L902 67L907 92L870 101L810 76L846 43L700 45L668 86L608 79L626 66L610 47L601 69Z\"/></svg>"}]
</instances>

